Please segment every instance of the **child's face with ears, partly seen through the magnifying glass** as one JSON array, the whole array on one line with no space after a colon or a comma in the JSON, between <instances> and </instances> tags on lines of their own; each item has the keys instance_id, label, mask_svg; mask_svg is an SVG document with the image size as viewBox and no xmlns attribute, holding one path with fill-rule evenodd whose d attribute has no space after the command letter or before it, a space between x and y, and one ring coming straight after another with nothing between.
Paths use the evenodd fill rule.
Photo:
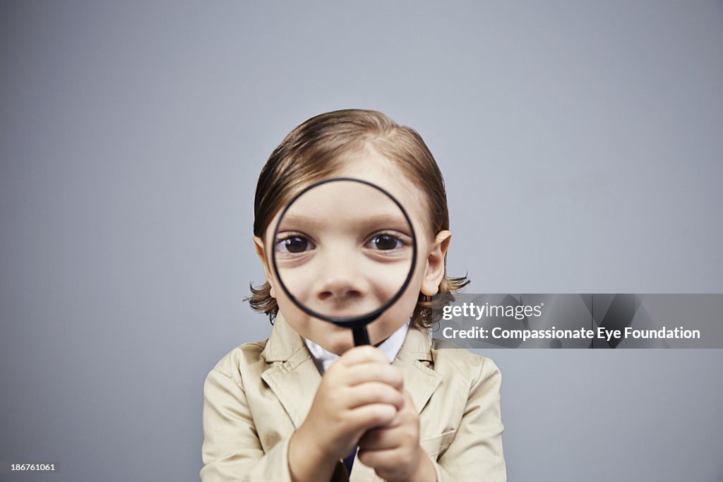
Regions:
<instances>
[{"instance_id":1,"label":"child's face with ears, partly seen through the magnifying glass","mask_svg":"<svg viewBox=\"0 0 723 482\"><path fill-rule=\"evenodd\" d=\"M370 342L377 344L411 317L420 292L436 293L444 274L449 233L445 231L435 239L430 238L424 194L374 150L352 156L332 177L358 178L382 187L401 202L414 225L418 255L411 282L395 304L367 325ZM406 222L397 223L387 230L393 233L393 238L374 238L374 246L370 246L367 236L376 231L364 226L360 212L368 206L370 212L387 212L390 218L403 218L399 215L401 211L384 194L364 184L334 182L322 188L312 189L308 196L305 194L294 203L282 220L277 239L273 240L272 236L278 215L270 223L265 239L254 241L272 287L271 296L276 299L286 322L302 337L341 354L354 346L351 330L301 311L270 270L270 249L275 249L284 284L297 300L320 313L349 317L373 311L395 295L409 272L411 239L405 238ZM372 206L377 207L376 211ZM294 214L297 212L307 213L313 221L304 225L294 220L300 218ZM325 242L329 239L334 241L333 249L322 250L315 245L316 241L329 246L330 243ZM355 256L354 246L359 246L356 251L364 254Z\"/></svg>"}]
</instances>

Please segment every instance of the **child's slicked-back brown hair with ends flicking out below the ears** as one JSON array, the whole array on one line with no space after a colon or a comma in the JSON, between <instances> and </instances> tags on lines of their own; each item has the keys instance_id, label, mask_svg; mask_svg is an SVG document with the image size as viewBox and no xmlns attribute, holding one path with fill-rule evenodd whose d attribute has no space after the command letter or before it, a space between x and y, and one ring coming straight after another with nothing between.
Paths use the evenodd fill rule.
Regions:
<instances>
[{"instance_id":1,"label":"child's slicked-back brown hair with ends flicking out below the ears","mask_svg":"<svg viewBox=\"0 0 723 482\"><path fill-rule=\"evenodd\" d=\"M254 198L254 236L264 238L271 220L294 194L304 187L331 176L349 155L372 147L390 160L426 194L429 236L449 228L447 195L442 173L432 152L414 129L400 126L381 112L346 109L322 113L304 121L291 131L271 153L261 170ZM466 276L445 275L440 294L452 294L469 283ZM250 285L252 296L247 300L252 309L268 314L271 322L278 313L270 285ZM440 319L440 308L447 296L434 301L419 293L411 327L428 328Z\"/></svg>"}]
</instances>

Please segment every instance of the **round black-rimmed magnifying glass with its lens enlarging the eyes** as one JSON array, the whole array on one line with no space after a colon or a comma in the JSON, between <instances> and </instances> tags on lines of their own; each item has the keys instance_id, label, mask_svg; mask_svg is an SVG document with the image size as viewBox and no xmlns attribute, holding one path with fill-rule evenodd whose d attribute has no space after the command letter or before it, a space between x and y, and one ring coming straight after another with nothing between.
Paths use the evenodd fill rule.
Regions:
<instances>
[{"instance_id":1,"label":"round black-rimmed magnifying glass with its lens enlarging the eyes","mask_svg":"<svg viewBox=\"0 0 723 482\"><path fill-rule=\"evenodd\" d=\"M401 203L357 178L328 178L283 208L270 243L278 286L305 314L353 330L369 345L367 324L402 296L416 265L416 235Z\"/></svg>"}]
</instances>

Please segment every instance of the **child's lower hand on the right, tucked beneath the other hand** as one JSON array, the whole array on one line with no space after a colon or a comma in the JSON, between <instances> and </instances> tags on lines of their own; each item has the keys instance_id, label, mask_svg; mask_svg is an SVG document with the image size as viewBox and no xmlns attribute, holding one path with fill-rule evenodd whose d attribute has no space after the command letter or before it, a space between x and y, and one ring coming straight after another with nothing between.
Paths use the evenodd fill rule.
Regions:
<instances>
[{"instance_id":1,"label":"child's lower hand on the right, tucked beneath the other hand","mask_svg":"<svg viewBox=\"0 0 723 482\"><path fill-rule=\"evenodd\" d=\"M434 465L419 446L419 414L408 392L404 398L393 421L361 437L359 460L385 481L436 481Z\"/></svg>"}]
</instances>

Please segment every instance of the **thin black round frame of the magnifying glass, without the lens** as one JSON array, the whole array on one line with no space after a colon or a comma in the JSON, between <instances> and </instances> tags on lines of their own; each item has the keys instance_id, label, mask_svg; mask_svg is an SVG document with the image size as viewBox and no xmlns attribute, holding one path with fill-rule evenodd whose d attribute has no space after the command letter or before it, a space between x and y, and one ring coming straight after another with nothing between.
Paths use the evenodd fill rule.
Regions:
<instances>
[{"instance_id":1,"label":"thin black round frame of the magnifying glass, without the lens","mask_svg":"<svg viewBox=\"0 0 723 482\"><path fill-rule=\"evenodd\" d=\"M306 194L311 189L314 189L315 187L322 186L322 184L328 184L330 182L338 182L338 181L351 181L351 182L357 182L360 184L366 184L369 187L372 187L374 189L377 189L377 191L380 191L382 194L385 194L389 199L391 199L394 204L399 208L399 210L404 215L404 219L406 220L407 224L409 225L409 232L411 234L411 244L412 244L412 251L411 251L411 266L409 267L409 272L407 273L406 279L404 280L404 283L402 283L401 288L399 288L399 291L395 293L394 296L392 296L385 304L382 304L380 308L375 309L375 311L372 311L367 314L363 314L359 317L329 317L325 314L321 314L317 311L314 311L310 309L308 306L304 305L296 299L294 295L291 294L290 291L288 291L288 288L286 288L286 285L283 283L283 280L281 279L281 275L278 272L278 266L276 264L276 236L278 235L278 228L281 226L281 220L283 220L283 217L286 215L286 212L288 212L289 208L291 208L292 205L294 205L294 202L296 202L301 196ZM281 289L283 289L284 293L286 293L286 296L296 305L297 308L299 308L301 311L304 311L304 313L308 314L310 317L315 317L318 319L322 319L326 322L338 324L342 327L348 327L351 328L352 333L354 335L354 345L369 345L369 333L367 333L367 324L373 322L375 319L379 318L382 313L384 313L387 309L389 309L390 306L395 304L395 302L402 296L402 294L406 291L406 288L409 286L409 283L411 282L411 278L414 275L414 268L416 267L416 257L417 257L417 247L416 247L416 233L414 232L414 225L411 223L411 218L409 218L409 215L407 214L404 207L401 205L401 202L399 202L392 194L390 194L389 191L382 188L381 186L377 186L377 184L374 184L369 181L364 181L364 179L357 179L357 178L350 178L350 177L335 177L335 178L327 178L322 179L321 181L317 181L314 184L305 187L304 189L301 189L294 197L291 198L291 200L286 203L286 206L281 211L281 215L279 215L278 220L276 220L276 225L273 230L273 236L271 238L271 266L273 267L274 274L276 276L276 279L278 280L279 285L281 286Z\"/></svg>"}]
</instances>

